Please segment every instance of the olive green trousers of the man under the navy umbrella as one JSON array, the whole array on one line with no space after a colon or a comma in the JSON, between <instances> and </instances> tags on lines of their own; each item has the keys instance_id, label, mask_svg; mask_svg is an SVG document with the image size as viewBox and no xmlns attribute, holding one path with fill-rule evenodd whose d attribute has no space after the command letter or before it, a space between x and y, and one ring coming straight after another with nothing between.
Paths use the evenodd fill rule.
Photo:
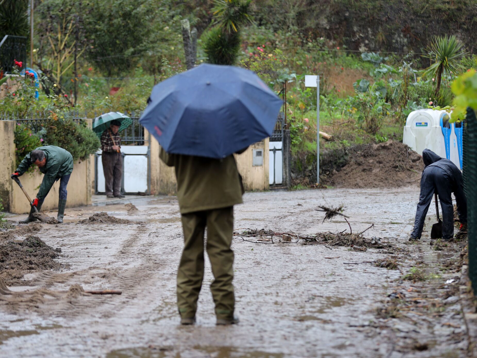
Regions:
<instances>
[{"instance_id":1,"label":"olive green trousers of the man under the navy umbrella","mask_svg":"<svg viewBox=\"0 0 477 358\"><path fill-rule=\"evenodd\" d=\"M218 318L234 314L234 253L230 249L233 234L233 207L182 214L184 251L177 271L177 307L181 317L194 317L197 299L204 278L204 232L207 227L206 250L214 281L210 291Z\"/></svg>"}]
</instances>

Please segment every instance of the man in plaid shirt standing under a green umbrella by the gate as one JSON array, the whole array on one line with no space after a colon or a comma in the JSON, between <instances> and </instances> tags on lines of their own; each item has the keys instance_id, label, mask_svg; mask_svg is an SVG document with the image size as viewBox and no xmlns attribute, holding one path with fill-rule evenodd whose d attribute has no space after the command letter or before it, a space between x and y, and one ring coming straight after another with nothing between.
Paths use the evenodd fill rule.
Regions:
<instances>
[{"instance_id":1,"label":"man in plaid shirt standing under a green umbrella by the gate","mask_svg":"<svg viewBox=\"0 0 477 358\"><path fill-rule=\"evenodd\" d=\"M108 198L124 198L121 193L123 156L119 131L131 125L131 118L120 112L105 113L94 119L93 131L100 135L105 191Z\"/></svg>"}]
</instances>

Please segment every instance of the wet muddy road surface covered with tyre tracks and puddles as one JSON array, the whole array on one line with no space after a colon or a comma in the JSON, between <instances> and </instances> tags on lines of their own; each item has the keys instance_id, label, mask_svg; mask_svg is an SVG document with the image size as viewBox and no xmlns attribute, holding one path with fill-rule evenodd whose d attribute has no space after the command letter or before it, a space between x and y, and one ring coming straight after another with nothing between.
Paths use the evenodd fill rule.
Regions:
<instances>
[{"instance_id":1,"label":"wet muddy road surface covered with tyre tracks and puddles","mask_svg":"<svg viewBox=\"0 0 477 358\"><path fill-rule=\"evenodd\" d=\"M34 233L61 248L56 260L64 266L0 287L0 357L467 357L458 302L426 310L425 297L432 293L432 302L440 302L447 297L439 290L452 288L444 283L458 284L458 273L439 267L459 250L453 244L433 250L427 236L407 243L418 195L418 188L247 193L235 209L237 229L341 232L348 229L342 218L321 223L324 214L315 209L344 204L353 232L374 223L365 236L394 249L234 240L240 324L229 327L215 326L207 260L197 325L178 324L176 268L183 242L175 197L69 209L65 224L42 224ZM102 211L124 221L89 219ZM397 270L361 263L390 256ZM425 263L426 280L402 280L417 263ZM393 317L387 296L414 292L421 311L405 306Z\"/></svg>"}]
</instances>

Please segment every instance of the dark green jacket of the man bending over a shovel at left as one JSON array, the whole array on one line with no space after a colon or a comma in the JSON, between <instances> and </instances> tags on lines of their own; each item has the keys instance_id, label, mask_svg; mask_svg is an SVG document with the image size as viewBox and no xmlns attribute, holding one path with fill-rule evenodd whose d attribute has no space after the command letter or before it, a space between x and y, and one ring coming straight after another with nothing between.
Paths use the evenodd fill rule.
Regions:
<instances>
[{"instance_id":1,"label":"dark green jacket of the man bending over a shovel at left","mask_svg":"<svg viewBox=\"0 0 477 358\"><path fill-rule=\"evenodd\" d=\"M73 156L66 149L56 146L38 147L35 150L42 150L45 152L46 164L40 168L40 171L45 175L38 190L37 198L44 200L50 189L52 189L55 180L71 174L73 172ZM31 162L30 153L21 161L17 168L17 172L22 175L30 168Z\"/></svg>"}]
</instances>

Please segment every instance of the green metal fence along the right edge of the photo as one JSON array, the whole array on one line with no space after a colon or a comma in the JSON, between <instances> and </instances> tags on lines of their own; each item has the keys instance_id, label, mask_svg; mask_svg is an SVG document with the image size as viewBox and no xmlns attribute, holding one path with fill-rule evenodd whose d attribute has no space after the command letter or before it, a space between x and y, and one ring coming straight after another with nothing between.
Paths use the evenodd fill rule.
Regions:
<instances>
[{"instance_id":1,"label":"green metal fence along the right edge of the photo","mask_svg":"<svg viewBox=\"0 0 477 358\"><path fill-rule=\"evenodd\" d=\"M477 293L477 120L475 112L468 108L466 123L463 126L463 165L464 190L467 195L467 238L469 256L469 278L474 293Z\"/></svg>"}]
</instances>

